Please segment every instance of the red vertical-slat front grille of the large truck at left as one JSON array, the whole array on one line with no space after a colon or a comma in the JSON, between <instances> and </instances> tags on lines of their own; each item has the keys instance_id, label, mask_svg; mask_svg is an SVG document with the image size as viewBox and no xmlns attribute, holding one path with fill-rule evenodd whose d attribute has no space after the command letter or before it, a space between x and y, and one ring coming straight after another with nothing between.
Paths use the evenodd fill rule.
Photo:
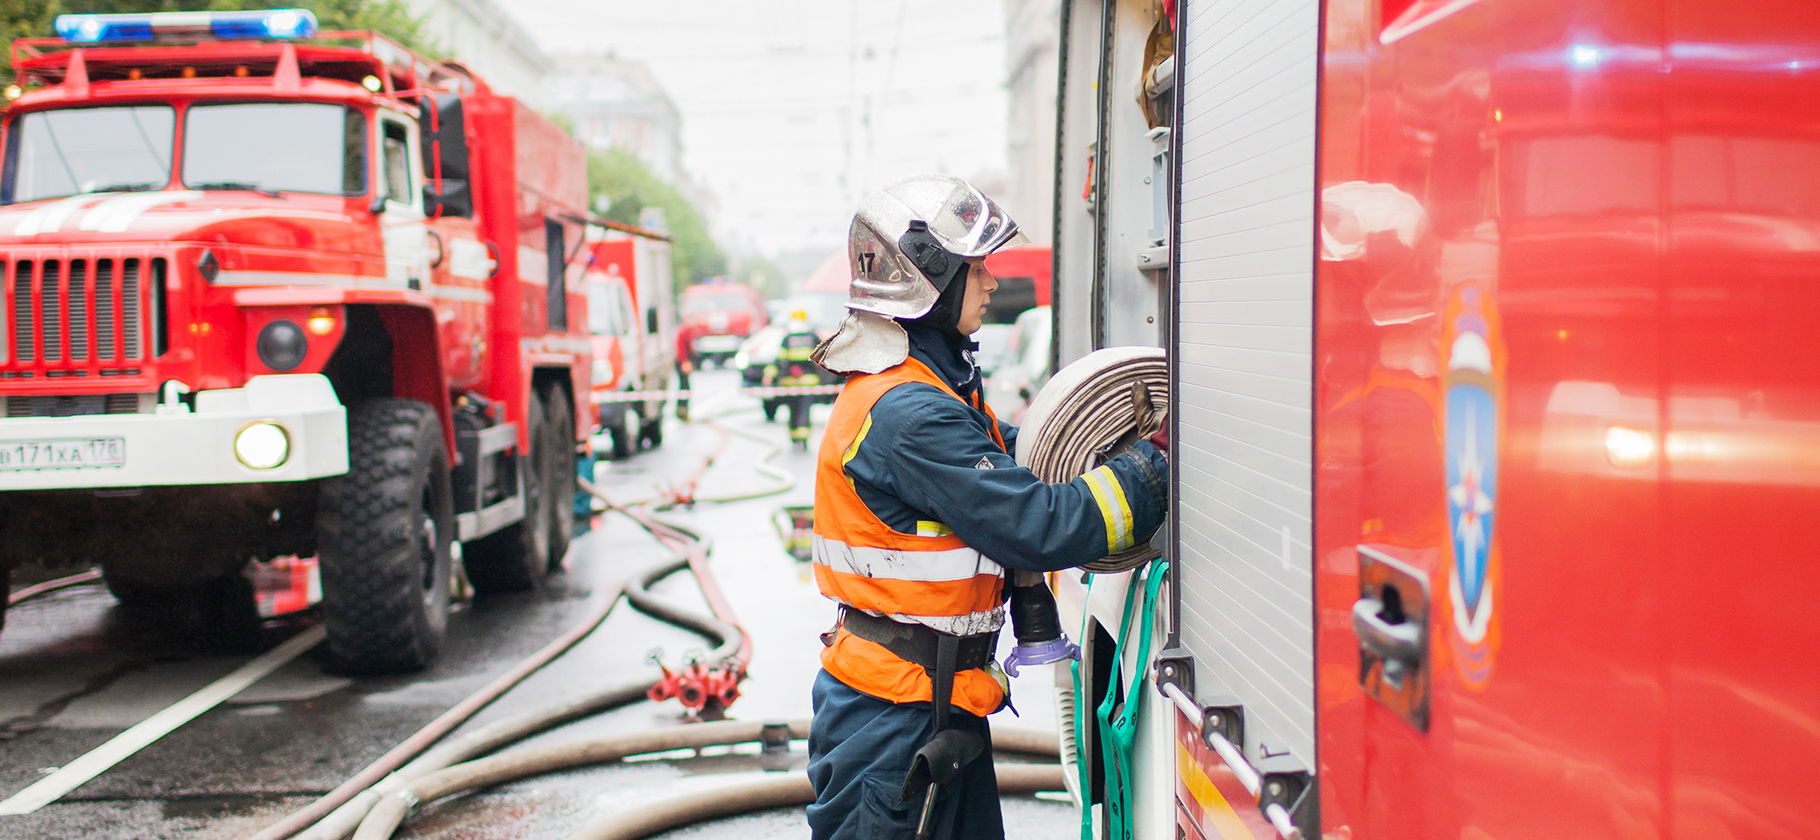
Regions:
<instances>
[{"instance_id":1,"label":"red vertical-slat front grille of the large truck at left","mask_svg":"<svg viewBox=\"0 0 1820 840\"><path fill-rule=\"evenodd\" d=\"M136 376L147 349L162 353L162 256L15 255L0 265L11 298L0 378Z\"/></svg>"}]
</instances>

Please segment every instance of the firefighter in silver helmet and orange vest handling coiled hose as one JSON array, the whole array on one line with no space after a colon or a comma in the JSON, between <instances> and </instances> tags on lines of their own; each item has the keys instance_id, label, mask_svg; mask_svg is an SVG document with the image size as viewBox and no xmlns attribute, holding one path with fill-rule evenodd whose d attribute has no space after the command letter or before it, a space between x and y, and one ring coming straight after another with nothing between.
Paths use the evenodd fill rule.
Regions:
<instances>
[{"instance_id":1,"label":"firefighter in silver helmet and orange vest handling coiled hose","mask_svg":"<svg viewBox=\"0 0 1820 840\"><path fill-rule=\"evenodd\" d=\"M1099 560L1163 518L1154 444L1043 484L981 398L968 336L997 287L983 260L1021 238L943 175L892 182L854 216L848 315L815 349L852 375L815 467L815 582L839 602L812 693L815 840L1001 838L986 715L1008 704L992 660L1006 569Z\"/></svg>"}]
</instances>

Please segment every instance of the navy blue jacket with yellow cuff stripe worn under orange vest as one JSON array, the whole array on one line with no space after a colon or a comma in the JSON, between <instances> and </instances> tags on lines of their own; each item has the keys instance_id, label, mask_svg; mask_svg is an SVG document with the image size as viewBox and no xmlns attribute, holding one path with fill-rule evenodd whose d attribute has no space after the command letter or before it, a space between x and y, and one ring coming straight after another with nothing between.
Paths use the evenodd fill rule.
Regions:
<instances>
[{"instance_id":1,"label":"navy blue jacket with yellow cuff stripe worn under orange vest","mask_svg":"<svg viewBox=\"0 0 1820 840\"><path fill-rule=\"evenodd\" d=\"M979 367L952 336L910 325L910 355L963 398L979 389ZM1116 487L1090 476L1045 484L999 449L990 424L934 385L897 385L872 405L872 431L846 475L894 531L941 524L1006 569L1059 571L1101 560L1112 553L1108 533L1125 547L1148 540L1163 522L1167 500L1152 487L1167 485L1168 458L1150 442L1107 464ZM1001 422L999 433L1016 453L1017 429Z\"/></svg>"}]
</instances>

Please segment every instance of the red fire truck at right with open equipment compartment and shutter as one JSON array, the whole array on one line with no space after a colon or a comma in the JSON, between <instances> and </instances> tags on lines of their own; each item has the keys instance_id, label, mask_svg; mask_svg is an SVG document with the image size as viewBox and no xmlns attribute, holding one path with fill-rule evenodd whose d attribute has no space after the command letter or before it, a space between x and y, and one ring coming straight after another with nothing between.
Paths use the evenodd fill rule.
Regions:
<instances>
[{"instance_id":1,"label":"red fire truck at right with open equipment compartment and shutter","mask_svg":"<svg viewBox=\"0 0 1820 840\"><path fill-rule=\"evenodd\" d=\"M1813 4L1061 9L1061 360L1174 395L1097 836L1820 836Z\"/></svg>"}]
</instances>

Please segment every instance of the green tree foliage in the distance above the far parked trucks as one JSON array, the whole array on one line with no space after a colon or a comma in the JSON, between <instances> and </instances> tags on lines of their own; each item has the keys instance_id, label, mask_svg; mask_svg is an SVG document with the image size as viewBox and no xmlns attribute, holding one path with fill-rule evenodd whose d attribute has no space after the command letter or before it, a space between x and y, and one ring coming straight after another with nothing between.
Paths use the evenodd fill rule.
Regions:
<instances>
[{"instance_id":1,"label":"green tree foliage in the distance above the far parked trucks","mask_svg":"<svg viewBox=\"0 0 1820 840\"><path fill-rule=\"evenodd\" d=\"M606 218L639 224L644 207L662 207L670 225L670 264L679 282L697 282L726 271L726 255L708 235L708 225L688 198L637 155L621 149L588 156L588 196L599 205L606 198Z\"/></svg>"}]
</instances>

